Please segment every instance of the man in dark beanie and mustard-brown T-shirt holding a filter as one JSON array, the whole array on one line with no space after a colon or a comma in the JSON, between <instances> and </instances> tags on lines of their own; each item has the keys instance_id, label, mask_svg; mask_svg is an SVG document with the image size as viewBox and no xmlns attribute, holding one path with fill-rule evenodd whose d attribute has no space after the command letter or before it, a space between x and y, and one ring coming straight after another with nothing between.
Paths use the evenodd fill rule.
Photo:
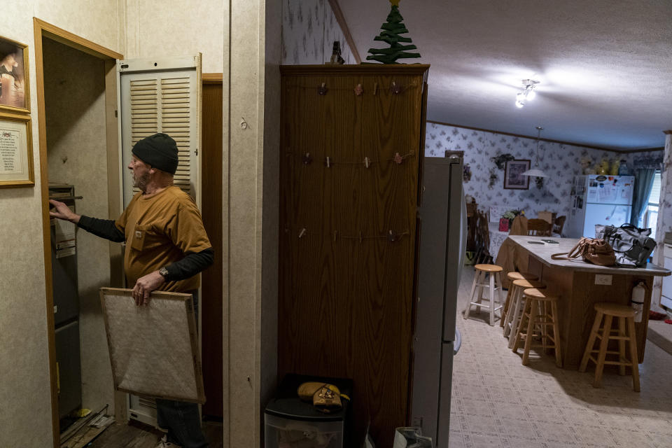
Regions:
<instances>
[{"instance_id":1,"label":"man in dark beanie and mustard-brown T-shirt holding a filter","mask_svg":"<svg viewBox=\"0 0 672 448\"><path fill-rule=\"evenodd\" d=\"M128 169L140 189L123 214L104 220L74 214L63 202L50 200L54 218L111 241L126 241L124 270L137 305L148 304L153 290L191 293L197 309L196 274L212 264L214 251L193 199L173 185L177 144L167 134L146 137L132 149ZM158 447L207 447L195 403L156 400L158 423L167 435Z\"/></svg>"}]
</instances>

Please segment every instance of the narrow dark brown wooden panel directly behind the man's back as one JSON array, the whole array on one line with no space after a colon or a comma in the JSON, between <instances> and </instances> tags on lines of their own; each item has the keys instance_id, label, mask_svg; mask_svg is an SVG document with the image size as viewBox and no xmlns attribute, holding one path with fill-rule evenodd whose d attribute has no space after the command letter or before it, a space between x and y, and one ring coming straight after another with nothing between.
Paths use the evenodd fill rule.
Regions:
<instances>
[{"instance_id":1,"label":"narrow dark brown wooden panel directly behind the man's back","mask_svg":"<svg viewBox=\"0 0 672 448\"><path fill-rule=\"evenodd\" d=\"M211 267L201 274L202 362L205 395L203 414L223 418L223 272L222 251L222 73L203 73L202 97L203 224L215 248Z\"/></svg>"}]
</instances>

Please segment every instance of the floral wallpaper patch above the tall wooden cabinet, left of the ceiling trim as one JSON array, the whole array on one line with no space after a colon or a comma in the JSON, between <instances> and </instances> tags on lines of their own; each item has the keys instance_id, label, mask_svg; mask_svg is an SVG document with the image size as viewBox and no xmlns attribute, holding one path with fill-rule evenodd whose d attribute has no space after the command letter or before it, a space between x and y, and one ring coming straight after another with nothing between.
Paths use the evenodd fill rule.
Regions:
<instances>
[{"instance_id":1,"label":"floral wallpaper patch above the tall wooden cabinet, left of the ceiling trim","mask_svg":"<svg viewBox=\"0 0 672 448\"><path fill-rule=\"evenodd\" d=\"M334 41L340 42L345 63L355 64L328 0L283 0L283 64L329 62Z\"/></svg>"}]
</instances>

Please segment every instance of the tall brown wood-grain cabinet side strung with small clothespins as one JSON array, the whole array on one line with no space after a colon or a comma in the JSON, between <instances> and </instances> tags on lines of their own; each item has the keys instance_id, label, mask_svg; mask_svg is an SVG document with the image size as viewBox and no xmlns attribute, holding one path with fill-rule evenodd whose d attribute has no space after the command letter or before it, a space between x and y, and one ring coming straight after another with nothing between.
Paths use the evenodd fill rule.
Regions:
<instances>
[{"instance_id":1,"label":"tall brown wood-grain cabinet side strung with small clothespins","mask_svg":"<svg viewBox=\"0 0 672 448\"><path fill-rule=\"evenodd\" d=\"M353 379L381 447L408 423L427 71L281 67L279 375Z\"/></svg>"}]
</instances>

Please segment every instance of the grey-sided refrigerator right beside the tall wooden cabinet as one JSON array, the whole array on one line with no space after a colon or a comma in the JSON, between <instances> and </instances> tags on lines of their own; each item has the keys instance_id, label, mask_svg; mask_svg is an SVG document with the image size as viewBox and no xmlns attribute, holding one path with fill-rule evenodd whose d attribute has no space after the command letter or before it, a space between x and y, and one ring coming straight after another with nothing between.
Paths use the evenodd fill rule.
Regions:
<instances>
[{"instance_id":1,"label":"grey-sided refrigerator right beside the tall wooden cabinet","mask_svg":"<svg viewBox=\"0 0 672 448\"><path fill-rule=\"evenodd\" d=\"M466 248L463 154L425 158L418 208L419 253L416 322L413 335L413 426L447 448L457 293Z\"/></svg>"}]
</instances>

